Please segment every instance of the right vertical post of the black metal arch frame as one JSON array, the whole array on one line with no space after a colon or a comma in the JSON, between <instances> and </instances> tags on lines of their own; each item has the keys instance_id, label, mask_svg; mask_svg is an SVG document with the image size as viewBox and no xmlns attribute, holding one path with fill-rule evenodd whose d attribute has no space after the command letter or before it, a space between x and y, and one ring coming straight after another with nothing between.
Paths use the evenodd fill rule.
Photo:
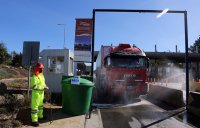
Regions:
<instances>
[{"instance_id":1,"label":"right vertical post of the black metal arch frame","mask_svg":"<svg viewBox=\"0 0 200 128\"><path fill-rule=\"evenodd\" d=\"M188 26L187 26L187 11L184 12L185 23L185 66L186 66L186 110L188 111L189 97L189 65L188 65Z\"/></svg>"}]
</instances>

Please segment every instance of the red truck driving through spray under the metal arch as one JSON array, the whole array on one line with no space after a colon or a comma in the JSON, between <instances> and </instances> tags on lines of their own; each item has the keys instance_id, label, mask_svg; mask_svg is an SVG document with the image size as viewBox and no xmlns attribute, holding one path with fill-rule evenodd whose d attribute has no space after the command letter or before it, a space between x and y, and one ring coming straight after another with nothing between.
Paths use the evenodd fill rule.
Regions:
<instances>
[{"instance_id":1,"label":"red truck driving through spray under the metal arch","mask_svg":"<svg viewBox=\"0 0 200 128\"><path fill-rule=\"evenodd\" d=\"M96 100L137 98L147 93L147 68L145 53L130 44L101 46L96 60Z\"/></svg>"}]
</instances>

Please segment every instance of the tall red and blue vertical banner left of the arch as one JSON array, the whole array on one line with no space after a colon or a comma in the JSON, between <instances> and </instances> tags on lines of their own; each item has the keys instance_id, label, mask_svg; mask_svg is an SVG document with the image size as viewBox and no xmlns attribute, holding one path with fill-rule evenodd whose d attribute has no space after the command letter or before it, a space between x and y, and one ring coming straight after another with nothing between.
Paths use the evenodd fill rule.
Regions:
<instances>
[{"instance_id":1,"label":"tall red and blue vertical banner left of the arch","mask_svg":"<svg viewBox=\"0 0 200 128\"><path fill-rule=\"evenodd\" d=\"M74 61L91 62L92 19L76 19Z\"/></svg>"}]
</instances>

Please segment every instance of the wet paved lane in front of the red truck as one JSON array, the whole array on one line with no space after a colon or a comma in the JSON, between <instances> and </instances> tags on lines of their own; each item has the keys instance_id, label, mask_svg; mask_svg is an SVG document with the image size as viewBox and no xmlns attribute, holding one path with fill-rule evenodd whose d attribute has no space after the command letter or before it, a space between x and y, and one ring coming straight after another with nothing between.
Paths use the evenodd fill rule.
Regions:
<instances>
[{"instance_id":1,"label":"wet paved lane in front of the red truck","mask_svg":"<svg viewBox=\"0 0 200 128\"><path fill-rule=\"evenodd\" d=\"M183 110L183 109L180 109ZM160 123L150 125L180 110L165 111L146 100L112 109L101 109L103 128L192 128L176 118L169 118Z\"/></svg>"}]
</instances>

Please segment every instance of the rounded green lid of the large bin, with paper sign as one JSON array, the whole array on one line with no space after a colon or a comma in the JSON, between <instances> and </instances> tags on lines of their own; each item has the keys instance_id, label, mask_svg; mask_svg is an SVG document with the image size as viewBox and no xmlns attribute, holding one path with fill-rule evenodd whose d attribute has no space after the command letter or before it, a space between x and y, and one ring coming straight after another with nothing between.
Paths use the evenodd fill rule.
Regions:
<instances>
[{"instance_id":1,"label":"rounded green lid of the large bin, with paper sign","mask_svg":"<svg viewBox=\"0 0 200 128\"><path fill-rule=\"evenodd\" d=\"M75 77L77 78L77 77ZM87 80L87 79L84 79L84 78L81 78L79 77L79 82L78 83L73 83L72 80L74 79L74 77L71 77L71 78L67 78L67 79L64 79L62 80L62 84L76 84L76 85L83 85L83 86L94 86L94 83Z\"/></svg>"}]
</instances>

